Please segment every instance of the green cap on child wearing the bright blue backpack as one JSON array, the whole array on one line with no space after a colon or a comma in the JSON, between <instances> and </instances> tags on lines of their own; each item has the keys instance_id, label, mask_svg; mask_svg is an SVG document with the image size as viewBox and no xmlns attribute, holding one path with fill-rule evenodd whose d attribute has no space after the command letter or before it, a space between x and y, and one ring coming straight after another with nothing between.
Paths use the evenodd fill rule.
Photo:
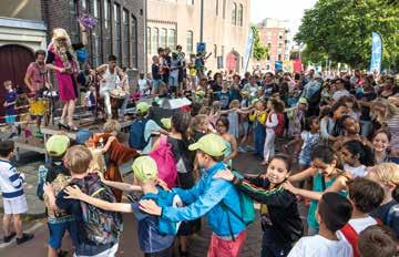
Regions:
<instances>
[{"instance_id":1,"label":"green cap on child wearing the bright blue backpack","mask_svg":"<svg viewBox=\"0 0 399 257\"><path fill-rule=\"evenodd\" d=\"M150 156L137 157L132 165L134 176L140 181L153 181L157 178L157 166Z\"/></svg>"}]
</instances>

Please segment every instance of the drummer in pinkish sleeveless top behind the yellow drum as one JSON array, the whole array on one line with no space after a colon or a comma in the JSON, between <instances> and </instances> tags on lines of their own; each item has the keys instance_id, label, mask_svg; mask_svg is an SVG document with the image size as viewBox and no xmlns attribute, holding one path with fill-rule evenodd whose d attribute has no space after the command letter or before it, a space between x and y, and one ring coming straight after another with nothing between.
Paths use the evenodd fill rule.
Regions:
<instances>
[{"instance_id":1,"label":"drummer in pinkish sleeveless top behind the yellow drum","mask_svg":"<svg viewBox=\"0 0 399 257\"><path fill-rule=\"evenodd\" d=\"M45 51L38 50L34 53L35 61L31 62L28 66L25 76L24 76L24 83L30 90L30 94L34 96L34 99L41 99L43 97L43 91L45 88L49 86L49 78L48 78L48 69L45 68ZM43 134L41 133L40 125L41 125L41 115L32 116L33 120L35 120L37 124L37 137L43 137Z\"/></svg>"}]
</instances>

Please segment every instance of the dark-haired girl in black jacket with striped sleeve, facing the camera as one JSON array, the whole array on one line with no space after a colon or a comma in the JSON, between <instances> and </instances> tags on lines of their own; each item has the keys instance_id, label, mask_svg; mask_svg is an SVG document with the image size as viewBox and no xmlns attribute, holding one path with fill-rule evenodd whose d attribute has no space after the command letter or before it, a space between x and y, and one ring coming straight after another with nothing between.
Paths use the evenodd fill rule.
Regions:
<instances>
[{"instance_id":1,"label":"dark-haired girl in black jacket with striped sleeve, facing the camera","mask_svg":"<svg viewBox=\"0 0 399 257\"><path fill-rule=\"evenodd\" d=\"M262 256L287 256L293 244L303 235L295 195L282 187L289 172L289 156L277 154L272 157L264 175L239 178L226 169L214 176L232 181L242 193L263 204Z\"/></svg>"}]
</instances>

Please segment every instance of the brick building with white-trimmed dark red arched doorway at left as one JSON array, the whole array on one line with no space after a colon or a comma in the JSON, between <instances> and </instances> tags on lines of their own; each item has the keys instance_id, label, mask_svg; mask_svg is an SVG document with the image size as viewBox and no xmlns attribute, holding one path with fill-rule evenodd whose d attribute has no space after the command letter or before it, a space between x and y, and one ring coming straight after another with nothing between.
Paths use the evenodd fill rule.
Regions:
<instances>
[{"instance_id":1,"label":"brick building with white-trimmed dark red arched doorway at left","mask_svg":"<svg viewBox=\"0 0 399 257\"><path fill-rule=\"evenodd\" d=\"M131 69L131 76L145 68L145 0L1 0L0 103L3 81L23 86L34 51L47 49L54 28L64 28L72 42L80 41L78 18L82 13L99 19L86 45L93 66L106 62L112 53L121 66Z\"/></svg>"}]
</instances>

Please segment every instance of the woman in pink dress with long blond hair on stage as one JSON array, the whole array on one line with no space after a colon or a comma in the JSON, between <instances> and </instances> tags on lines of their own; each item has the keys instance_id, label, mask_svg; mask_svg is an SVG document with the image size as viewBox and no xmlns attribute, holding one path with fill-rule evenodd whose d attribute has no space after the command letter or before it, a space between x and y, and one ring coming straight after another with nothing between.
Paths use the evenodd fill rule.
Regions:
<instances>
[{"instance_id":1,"label":"woman in pink dress with long blond hair on stage","mask_svg":"<svg viewBox=\"0 0 399 257\"><path fill-rule=\"evenodd\" d=\"M78 127L73 124L73 112L78 97L75 79L79 64L71 39L64 29L53 30L53 37L48 47L45 63L48 69L55 72L60 99L63 104L59 127L78 131Z\"/></svg>"}]
</instances>

